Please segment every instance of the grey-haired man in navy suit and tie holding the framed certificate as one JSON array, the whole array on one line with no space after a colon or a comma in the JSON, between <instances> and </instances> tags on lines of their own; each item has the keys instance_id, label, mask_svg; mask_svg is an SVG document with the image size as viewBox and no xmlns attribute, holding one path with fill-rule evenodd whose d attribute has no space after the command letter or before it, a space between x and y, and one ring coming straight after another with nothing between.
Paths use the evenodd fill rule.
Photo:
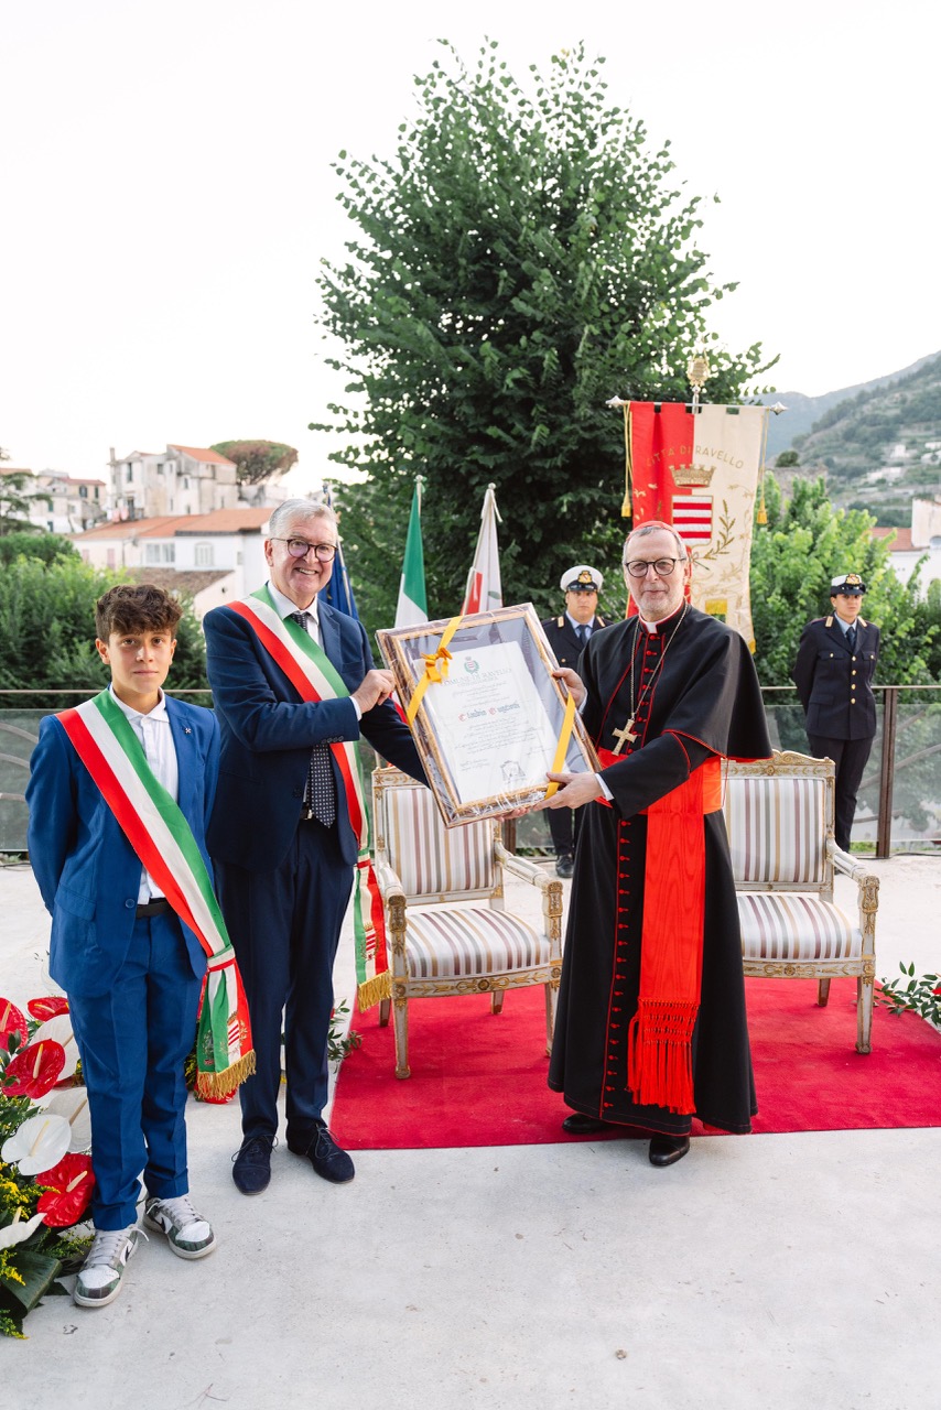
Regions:
<instances>
[{"instance_id":1,"label":"grey-haired man in navy suit and tie holding the framed certificate","mask_svg":"<svg viewBox=\"0 0 941 1410\"><path fill-rule=\"evenodd\" d=\"M269 629L254 625L257 605L240 611L253 598L216 608L203 620L221 729L209 849L245 986L257 1060L255 1076L240 1090L243 1144L233 1180L243 1194L260 1193L271 1179L282 1011L288 1149L306 1156L326 1180L344 1183L354 1176L353 1160L322 1115L333 960L358 850L343 776L327 746L363 733L385 759L425 781L412 736L389 702L391 673L374 668L354 618L317 601L337 541L330 508L286 501L271 515L265 540L271 577L257 595ZM291 651L299 660L319 654L303 639L305 657L296 627L326 653L327 671L339 674L334 697L305 699L292 682Z\"/></svg>"}]
</instances>

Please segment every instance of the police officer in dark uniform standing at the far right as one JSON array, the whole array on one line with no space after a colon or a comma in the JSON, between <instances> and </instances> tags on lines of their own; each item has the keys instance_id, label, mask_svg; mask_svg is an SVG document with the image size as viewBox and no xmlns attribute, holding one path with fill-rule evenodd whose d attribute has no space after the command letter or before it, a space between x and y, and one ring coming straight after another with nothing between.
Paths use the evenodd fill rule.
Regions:
<instances>
[{"instance_id":1,"label":"police officer in dark uniform standing at the far right","mask_svg":"<svg viewBox=\"0 0 941 1410\"><path fill-rule=\"evenodd\" d=\"M856 791L876 733L879 627L859 615L866 585L858 572L844 572L830 587L832 612L804 627L791 678L811 754L837 764L835 840L849 852Z\"/></svg>"}]
</instances>

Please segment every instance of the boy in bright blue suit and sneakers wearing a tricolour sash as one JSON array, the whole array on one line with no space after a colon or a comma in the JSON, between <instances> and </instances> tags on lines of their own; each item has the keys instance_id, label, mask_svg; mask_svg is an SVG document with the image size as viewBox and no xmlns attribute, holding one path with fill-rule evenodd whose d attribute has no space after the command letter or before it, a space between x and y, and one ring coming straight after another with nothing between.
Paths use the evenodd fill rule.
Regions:
<instances>
[{"instance_id":1,"label":"boy in bright blue suit and sneakers wearing a tricolour sash","mask_svg":"<svg viewBox=\"0 0 941 1410\"><path fill-rule=\"evenodd\" d=\"M89 712L96 702L86 702L44 719L30 766L28 846L52 915L49 973L69 998L92 1112L96 1234L73 1292L82 1307L103 1307L120 1292L141 1238L141 1172L145 1227L165 1234L181 1258L203 1258L216 1246L189 1201L183 1118L183 1062L196 1034L206 955L141 864L102 783L107 752L117 747L102 715L111 712L120 737L127 730L120 709L142 744L148 783L176 801L209 866L205 826L219 726L210 711L162 691L181 616L161 588L121 584L106 592L96 608L96 647L111 671L110 699L107 692L99 698L100 711ZM82 733L82 719L99 729L100 747ZM126 740L127 761L137 759L140 774L138 744L130 735ZM120 749L111 760L120 773Z\"/></svg>"}]
</instances>

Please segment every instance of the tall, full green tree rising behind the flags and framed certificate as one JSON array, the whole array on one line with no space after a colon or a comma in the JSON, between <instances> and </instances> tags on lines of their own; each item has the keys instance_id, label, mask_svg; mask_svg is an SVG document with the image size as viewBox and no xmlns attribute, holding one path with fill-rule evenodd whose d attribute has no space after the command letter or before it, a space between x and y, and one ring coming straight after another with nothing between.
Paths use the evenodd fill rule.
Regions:
<instances>
[{"instance_id":1,"label":"tall, full green tree rising behind the flags and framed certificate","mask_svg":"<svg viewBox=\"0 0 941 1410\"><path fill-rule=\"evenodd\" d=\"M614 393L688 395L708 348L717 400L763 371L707 327L715 285L697 245L698 197L680 192L669 144L611 104L584 49L530 69L532 97L487 44L473 70L450 45L416 78L418 118L395 157L340 154L340 202L357 227L346 264L319 279L326 334L344 345L347 405L313 429L339 433L334 461L367 472L344 488L344 543L395 580L416 472L426 477L429 611L460 605L492 481L504 519L506 601L556 605L574 561L619 550L624 441ZM378 592L372 594L375 598ZM385 625L394 596L385 596Z\"/></svg>"}]
</instances>

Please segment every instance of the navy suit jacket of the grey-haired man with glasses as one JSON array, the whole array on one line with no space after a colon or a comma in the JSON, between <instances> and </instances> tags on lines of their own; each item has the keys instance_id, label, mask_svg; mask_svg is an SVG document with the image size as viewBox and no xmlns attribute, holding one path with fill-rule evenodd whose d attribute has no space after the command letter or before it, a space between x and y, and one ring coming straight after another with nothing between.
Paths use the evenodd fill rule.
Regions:
<instances>
[{"instance_id":1,"label":"navy suit jacket of the grey-haired man with glasses","mask_svg":"<svg viewBox=\"0 0 941 1410\"><path fill-rule=\"evenodd\" d=\"M367 634L356 618L317 602L320 644L350 692L372 670ZM425 783L406 725L389 701L357 721L343 699L302 701L258 640L251 625L229 608L203 619L206 670L221 732L219 791L209 823L209 849L219 862L248 871L272 871L284 862L300 818L310 746L357 740ZM337 798L340 771L333 760ZM346 808L337 816L343 860L357 859Z\"/></svg>"}]
</instances>

